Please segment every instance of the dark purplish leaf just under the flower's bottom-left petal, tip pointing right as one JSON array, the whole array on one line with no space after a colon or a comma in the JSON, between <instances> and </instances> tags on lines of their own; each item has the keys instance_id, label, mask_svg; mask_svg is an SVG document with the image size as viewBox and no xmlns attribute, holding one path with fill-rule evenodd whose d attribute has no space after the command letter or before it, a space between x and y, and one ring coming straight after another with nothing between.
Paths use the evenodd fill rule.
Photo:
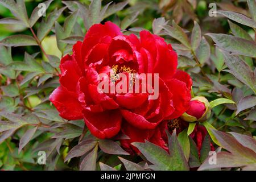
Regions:
<instances>
[{"instance_id":1,"label":"dark purplish leaf just under the flower's bottom-left petal, tip pointing right","mask_svg":"<svg viewBox=\"0 0 256 182\"><path fill-rule=\"evenodd\" d=\"M128 152L123 150L116 142L109 139L100 139L98 142L102 151L106 154L114 154L114 155L129 155Z\"/></svg>"}]
</instances>

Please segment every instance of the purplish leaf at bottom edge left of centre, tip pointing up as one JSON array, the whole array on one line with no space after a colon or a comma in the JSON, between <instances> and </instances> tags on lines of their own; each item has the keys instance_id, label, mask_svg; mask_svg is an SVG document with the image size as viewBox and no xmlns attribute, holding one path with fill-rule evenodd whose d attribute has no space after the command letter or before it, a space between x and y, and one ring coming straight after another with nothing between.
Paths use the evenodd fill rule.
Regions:
<instances>
[{"instance_id":1,"label":"purplish leaf at bottom edge left of centre, tip pointing up","mask_svg":"<svg viewBox=\"0 0 256 182\"><path fill-rule=\"evenodd\" d=\"M93 148L92 151L89 152L88 155L82 160L80 164L80 171L95 171L96 169L96 161L98 155L98 145Z\"/></svg>"}]
</instances>

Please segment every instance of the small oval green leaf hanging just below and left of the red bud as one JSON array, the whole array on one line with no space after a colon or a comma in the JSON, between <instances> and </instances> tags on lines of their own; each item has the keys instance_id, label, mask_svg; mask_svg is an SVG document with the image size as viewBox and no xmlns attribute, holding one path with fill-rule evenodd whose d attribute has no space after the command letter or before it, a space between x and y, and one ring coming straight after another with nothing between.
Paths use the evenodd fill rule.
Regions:
<instances>
[{"instance_id":1,"label":"small oval green leaf hanging just below and left of the red bud","mask_svg":"<svg viewBox=\"0 0 256 182\"><path fill-rule=\"evenodd\" d=\"M187 130L183 130L179 133L177 140L180 143L180 146L184 152L185 158L189 159L189 154L190 154L190 144L189 144L189 139L187 135Z\"/></svg>"}]
</instances>

